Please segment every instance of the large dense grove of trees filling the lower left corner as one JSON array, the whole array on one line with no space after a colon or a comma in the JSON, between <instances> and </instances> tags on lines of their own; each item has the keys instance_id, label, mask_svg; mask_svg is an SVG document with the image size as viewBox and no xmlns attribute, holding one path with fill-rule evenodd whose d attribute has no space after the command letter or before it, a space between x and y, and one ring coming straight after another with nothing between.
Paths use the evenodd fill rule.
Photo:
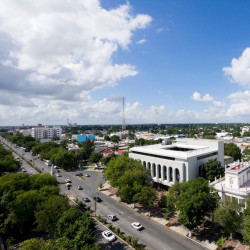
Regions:
<instances>
[{"instance_id":1,"label":"large dense grove of trees filling the lower left corner","mask_svg":"<svg viewBox=\"0 0 250 250\"><path fill-rule=\"evenodd\" d=\"M9 244L27 236L52 233L48 242L30 239L22 249L81 249L95 241L95 223L89 214L70 207L49 174L8 174L0 177L0 234ZM40 242L44 247L30 248ZM46 248L46 247L47 248ZM49 246L49 247L48 247ZM89 248L90 249L90 248Z\"/></svg>"}]
</instances>

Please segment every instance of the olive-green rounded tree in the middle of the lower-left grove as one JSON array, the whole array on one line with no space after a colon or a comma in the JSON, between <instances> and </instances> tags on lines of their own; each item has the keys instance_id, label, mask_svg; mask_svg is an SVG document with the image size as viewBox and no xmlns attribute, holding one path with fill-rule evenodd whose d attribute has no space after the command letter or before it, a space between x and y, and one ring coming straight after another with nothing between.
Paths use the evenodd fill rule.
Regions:
<instances>
[{"instance_id":1,"label":"olive-green rounded tree in the middle of the lower-left grove","mask_svg":"<svg viewBox=\"0 0 250 250\"><path fill-rule=\"evenodd\" d=\"M66 196L51 196L41 203L35 211L37 231L53 233L62 214L69 209L69 200Z\"/></svg>"}]
</instances>

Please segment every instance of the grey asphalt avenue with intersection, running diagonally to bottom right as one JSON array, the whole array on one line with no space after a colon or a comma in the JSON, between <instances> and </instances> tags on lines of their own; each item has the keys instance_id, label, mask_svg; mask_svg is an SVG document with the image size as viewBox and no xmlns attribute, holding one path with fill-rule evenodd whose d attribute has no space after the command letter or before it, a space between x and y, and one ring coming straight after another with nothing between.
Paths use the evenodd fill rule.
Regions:
<instances>
[{"instance_id":1,"label":"grey asphalt avenue with intersection, running diagonally to bottom right","mask_svg":"<svg viewBox=\"0 0 250 250\"><path fill-rule=\"evenodd\" d=\"M18 153L20 149L13 148ZM43 161L35 159L36 157L31 156L30 153L25 153L25 158L32 160L33 164L39 169L43 169L43 172L50 172L50 167L46 166ZM76 173L89 173L90 177L78 177ZM78 198L88 197L91 201L88 203L91 209L95 211L95 202L93 200L94 195L99 195L103 200L102 202L96 203L96 213L102 217L107 217L108 214L115 214L118 217L116 222L112 222L115 227L119 227L122 232L126 235L135 236L139 239L139 243L143 244L147 249L152 250L198 250L205 249L196 242L160 225L153 220L148 219L144 215L141 215L131 208L124 206L118 201L102 194L97 191L97 187L100 183L104 182L103 175L96 171L81 170L76 172L64 172L61 171L62 177L57 177L60 187L63 193ZM65 186L65 179L72 181L72 187L70 190ZM83 187L83 190L77 190L77 186ZM132 222L139 222L143 225L142 231L137 231L131 227ZM120 244L119 241L117 243ZM110 243L109 243L110 244ZM114 243L112 243L111 247ZM113 246L115 247L115 246ZM113 249L113 248L112 248ZM116 249L116 248L114 248ZM123 249L123 248L117 248Z\"/></svg>"}]
</instances>

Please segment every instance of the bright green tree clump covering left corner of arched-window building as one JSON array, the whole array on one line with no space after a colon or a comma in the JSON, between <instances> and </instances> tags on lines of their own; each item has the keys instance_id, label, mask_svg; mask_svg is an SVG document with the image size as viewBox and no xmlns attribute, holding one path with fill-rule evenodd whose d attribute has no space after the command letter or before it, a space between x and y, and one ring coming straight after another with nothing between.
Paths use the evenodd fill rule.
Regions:
<instances>
[{"instance_id":1,"label":"bright green tree clump covering left corner of arched-window building","mask_svg":"<svg viewBox=\"0 0 250 250\"><path fill-rule=\"evenodd\" d=\"M118 188L117 195L123 201L152 206L156 200L155 190L149 186L150 172L137 160L127 156L114 157L108 163L104 176Z\"/></svg>"}]
</instances>

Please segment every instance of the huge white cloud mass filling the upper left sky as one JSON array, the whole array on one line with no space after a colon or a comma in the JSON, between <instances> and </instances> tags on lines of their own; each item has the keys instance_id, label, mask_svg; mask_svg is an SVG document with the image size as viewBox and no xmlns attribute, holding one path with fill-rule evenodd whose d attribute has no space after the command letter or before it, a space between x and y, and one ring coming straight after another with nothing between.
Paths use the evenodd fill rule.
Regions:
<instances>
[{"instance_id":1,"label":"huge white cloud mass filling the upper left sky","mask_svg":"<svg viewBox=\"0 0 250 250\"><path fill-rule=\"evenodd\" d=\"M73 100L81 91L114 86L138 73L130 64L113 64L112 55L118 47L127 49L133 32L146 28L151 20L148 15L132 16L129 4L108 11L98 0L74 4L3 0L0 30L14 45L1 62L26 72L23 82L30 89L50 89L45 98L62 99L71 87Z\"/></svg>"}]
</instances>

